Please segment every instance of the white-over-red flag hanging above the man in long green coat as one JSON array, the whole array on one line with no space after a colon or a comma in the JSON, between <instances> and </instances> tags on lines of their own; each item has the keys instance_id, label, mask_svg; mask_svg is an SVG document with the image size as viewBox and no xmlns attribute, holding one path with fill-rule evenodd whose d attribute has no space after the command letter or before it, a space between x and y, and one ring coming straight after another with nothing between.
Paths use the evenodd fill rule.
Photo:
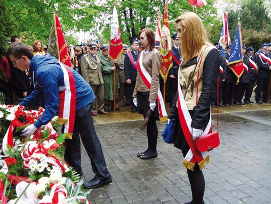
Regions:
<instances>
[{"instance_id":1,"label":"white-over-red flag hanging above the man in long green coat","mask_svg":"<svg viewBox=\"0 0 271 204\"><path fill-rule=\"evenodd\" d=\"M121 41L121 34L118 25L117 19L117 10L116 5L113 9L113 18L111 21L111 33L110 33L110 46L109 46L109 56L112 60L118 59L118 57L122 53L122 41Z\"/></svg>"}]
</instances>

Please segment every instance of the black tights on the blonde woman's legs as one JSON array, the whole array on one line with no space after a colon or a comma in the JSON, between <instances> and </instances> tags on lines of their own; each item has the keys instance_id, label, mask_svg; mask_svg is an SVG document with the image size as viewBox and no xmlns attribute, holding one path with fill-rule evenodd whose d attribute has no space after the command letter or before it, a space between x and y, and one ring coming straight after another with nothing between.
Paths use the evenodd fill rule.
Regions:
<instances>
[{"instance_id":1,"label":"black tights on the blonde woman's legs","mask_svg":"<svg viewBox=\"0 0 271 204\"><path fill-rule=\"evenodd\" d=\"M205 181L202 170L199 169L199 165L195 165L195 171L187 169L187 174L192 190L192 202L191 204L202 204L203 195L205 189Z\"/></svg>"}]
</instances>

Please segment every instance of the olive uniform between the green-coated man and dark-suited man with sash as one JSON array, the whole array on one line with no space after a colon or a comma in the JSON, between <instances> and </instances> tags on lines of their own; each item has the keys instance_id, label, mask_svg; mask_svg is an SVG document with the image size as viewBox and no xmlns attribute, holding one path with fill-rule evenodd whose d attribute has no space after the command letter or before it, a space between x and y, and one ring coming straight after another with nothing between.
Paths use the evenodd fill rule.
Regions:
<instances>
[{"instance_id":1,"label":"olive uniform between the green-coated man and dark-suited man with sash","mask_svg":"<svg viewBox=\"0 0 271 204\"><path fill-rule=\"evenodd\" d=\"M124 73L124 59L125 55L121 54L117 60L119 65L118 78L119 78L119 99L120 103L125 105L125 87L126 87L126 77Z\"/></svg>"}]
</instances>

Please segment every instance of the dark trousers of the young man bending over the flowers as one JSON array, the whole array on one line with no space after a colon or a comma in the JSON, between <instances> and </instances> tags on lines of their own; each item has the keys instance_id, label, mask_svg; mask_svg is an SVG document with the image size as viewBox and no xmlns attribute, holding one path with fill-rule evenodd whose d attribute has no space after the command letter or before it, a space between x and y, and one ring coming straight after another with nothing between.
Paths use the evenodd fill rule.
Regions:
<instances>
[{"instance_id":1,"label":"dark trousers of the young man bending over the flowers","mask_svg":"<svg viewBox=\"0 0 271 204\"><path fill-rule=\"evenodd\" d=\"M92 171L97 178L110 178L111 175L106 168L99 138L95 132L91 106L89 105L76 111L75 124L72 139L66 139L65 161L77 172L82 172L80 138L90 158Z\"/></svg>"}]
</instances>

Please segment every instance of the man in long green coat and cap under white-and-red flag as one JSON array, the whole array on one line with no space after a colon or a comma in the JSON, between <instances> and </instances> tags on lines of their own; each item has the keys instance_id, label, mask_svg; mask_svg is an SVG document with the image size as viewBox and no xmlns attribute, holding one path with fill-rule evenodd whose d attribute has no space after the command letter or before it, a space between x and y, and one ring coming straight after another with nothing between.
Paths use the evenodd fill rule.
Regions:
<instances>
[{"instance_id":1,"label":"man in long green coat and cap under white-and-red flag","mask_svg":"<svg viewBox=\"0 0 271 204\"><path fill-rule=\"evenodd\" d=\"M117 69L119 69L119 65L117 64L116 59L111 60L109 57L109 47L108 45L104 45L101 47L101 71L104 81L104 110L108 111L111 105L111 110L113 110L114 107L114 72L116 73L116 101L119 98L118 94L118 73ZM114 66L115 63L115 66ZM116 102L117 104L117 102ZM116 110L120 110L116 106Z\"/></svg>"}]
</instances>

